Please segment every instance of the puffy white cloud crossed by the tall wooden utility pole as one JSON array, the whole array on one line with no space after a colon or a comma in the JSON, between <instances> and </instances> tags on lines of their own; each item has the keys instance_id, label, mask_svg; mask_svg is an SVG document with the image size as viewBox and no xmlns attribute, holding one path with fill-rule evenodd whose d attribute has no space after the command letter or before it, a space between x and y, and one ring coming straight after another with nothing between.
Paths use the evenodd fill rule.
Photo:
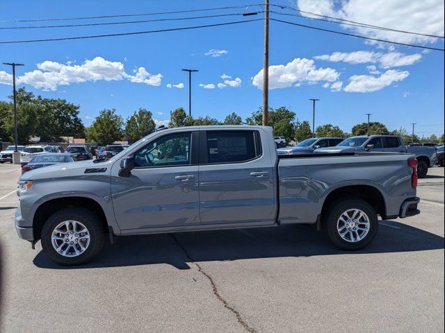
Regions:
<instances>
[{"instance_id":1,"label":"puffy white cloud crossed by the tall wooden utility pole","mask_svg":"<svg viewBox=\"0 0 445 333\"><path fill-rule=\"evenodd\" d=\"M286 88L296 83L334 82L340 74L332 68L317 68L314 60L296 58L286 65L269 66L269 89ZM263 87L263 69L252 79L252 84Z\"/></svg>"}]
</instances>

